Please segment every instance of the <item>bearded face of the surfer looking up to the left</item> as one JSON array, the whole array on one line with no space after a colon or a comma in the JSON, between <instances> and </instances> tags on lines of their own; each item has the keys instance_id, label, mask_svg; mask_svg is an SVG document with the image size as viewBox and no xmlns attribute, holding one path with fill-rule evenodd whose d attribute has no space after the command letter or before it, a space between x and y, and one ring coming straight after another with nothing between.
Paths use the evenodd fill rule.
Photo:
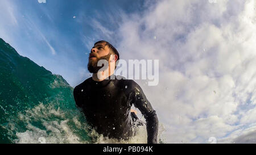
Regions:
<instances>
[{"instance_id":1,"label":"bearded face of the surfer looking up to the left","mask_svg":"<svg viewBox=\"0 0 256 155\"><path fill-rule=\"evenodd\" d=\"M110 49L109 46L106 46L106 43L96 44L91 50L89 55L88 70L90 73L97 73L102 66L97 66L98 61L105 59L109 61L110 58Z\"/></svg>"}]
</instances>

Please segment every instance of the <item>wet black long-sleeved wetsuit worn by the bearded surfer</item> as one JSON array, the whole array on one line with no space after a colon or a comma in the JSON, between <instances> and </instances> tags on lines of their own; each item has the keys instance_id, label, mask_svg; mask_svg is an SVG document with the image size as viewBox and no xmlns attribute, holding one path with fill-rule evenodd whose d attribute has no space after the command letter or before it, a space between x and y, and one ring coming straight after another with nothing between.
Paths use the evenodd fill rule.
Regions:
<instances>
[{"instance_id":1,"label":"wet black long-sleeved wetsuit worn by the bearded surfer","mask_svg":"<svg viewBox=\"0 0 256 155\"><path fill-rule=\"evenodd\" d=\"M90 77L75 87L76 105L82 108L87 122L104 136L129 139L134 134L130 113L134 104L146 119L147 143L156 143L158 118L141 87L132 79L110 77L100 82Z\"/></svg>"}]
</instances>

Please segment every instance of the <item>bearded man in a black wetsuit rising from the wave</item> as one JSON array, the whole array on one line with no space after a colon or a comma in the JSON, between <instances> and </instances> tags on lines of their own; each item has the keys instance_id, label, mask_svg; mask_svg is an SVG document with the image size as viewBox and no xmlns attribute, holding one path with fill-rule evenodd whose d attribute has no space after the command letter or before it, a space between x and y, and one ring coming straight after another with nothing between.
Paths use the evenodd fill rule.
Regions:
<instances>
[{"instance_id":1,"label":"bearded man in a black wetsuit rising from the wave","mask_svg":"<svg viewBox=\"0 0 256 155\"><path fill-rule=\"evenodd\" d=\"M108 63L98 64L101 60ZM73 95L76 105L98 133L118 140L128 140L135 134L133 125L138 122L138 117L131 112L134 105L146 119L147 143L157 143L156 111L136 82L114 75L118 60L117 49L108 41L101 40L94 44L88 62L88 70L93 74L75 87Z\"/></svg>"}]
</instances>

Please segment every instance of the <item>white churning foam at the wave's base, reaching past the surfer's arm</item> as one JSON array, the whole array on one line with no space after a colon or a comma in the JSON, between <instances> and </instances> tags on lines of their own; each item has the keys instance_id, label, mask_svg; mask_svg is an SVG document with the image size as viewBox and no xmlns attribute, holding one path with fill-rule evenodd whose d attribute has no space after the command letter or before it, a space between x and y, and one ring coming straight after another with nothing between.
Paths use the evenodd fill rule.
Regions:
<instances>
[{"instance_id":1,"label":"white churning foam at the wave's base, reaching past the surfer's arm","mask_svg":"<svg viewBox=\"0 0 256 155\"><path fill-rule=\"evenodd\" d=\"M14 140L14 143L147 143L146 125L135 128L137 135L129 140L117 140L99 135L94 129L90 130L85 120L81 120L80 113L70 116L69 111L60 108L55 110L51 104L40 103L26 112L26 115L18 115L19 121L27 123L26 131L16 132L18 139ZM36 127L34 122L39 122L40 128ZM9 125L15 130L16 124ZM159 137L163 130L163 125L159 124ZM93 141L88 140L89 137L92 137Z\"/></svg>"}]
</instances>

